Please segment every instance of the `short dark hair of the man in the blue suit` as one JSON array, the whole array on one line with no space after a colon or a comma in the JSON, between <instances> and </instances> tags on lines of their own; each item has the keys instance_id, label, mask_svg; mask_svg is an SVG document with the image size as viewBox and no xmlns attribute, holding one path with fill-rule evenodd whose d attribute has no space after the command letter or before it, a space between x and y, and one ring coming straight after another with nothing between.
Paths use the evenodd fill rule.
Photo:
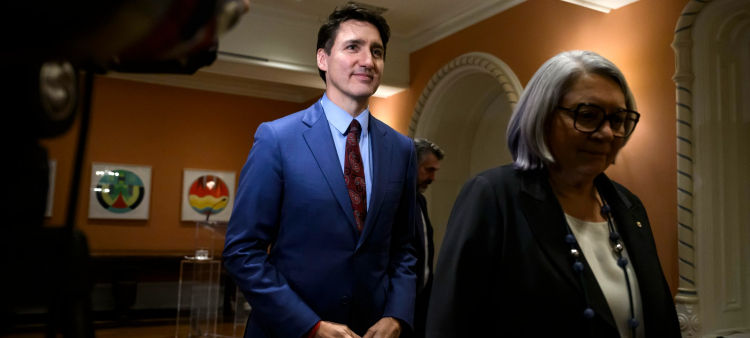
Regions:
<instances>
[{"instance_id":1,"label":"short dark hair of the man in the blue suit","mask_svg":"<svg viewBox=\"0 0 750 338\"><path fill-rule=\"evenodd\" d=\"M333 43L336 41L339 26L341 26L341 23L349 20L369 22L378 29L380 39L383 41L383 60L385 60L385 50L388 45L388 39L391 37L391 28L388 27L388 23L385 22L383 16L356 4L346 4L336 7L336 10L328 16L328 20L320 26L320 30L318 31L318 46L315 50L323 48L326 54L331 55L331 48L333 48ZM320 78L323 79L323 82L326 82L326 72L318 68L318 73L320 73Z\"/></svg>"}]
</instances>

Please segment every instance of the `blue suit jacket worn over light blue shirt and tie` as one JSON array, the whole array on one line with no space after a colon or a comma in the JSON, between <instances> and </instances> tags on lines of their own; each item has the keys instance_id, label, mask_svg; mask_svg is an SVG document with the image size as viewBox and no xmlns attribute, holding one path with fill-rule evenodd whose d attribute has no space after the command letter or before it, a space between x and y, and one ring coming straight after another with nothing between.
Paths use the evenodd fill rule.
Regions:
<instances>
[{"instance_id":1,"label":"blue suit jacket worn over light blue shirt and tie","mask_svg":"<svg viewBox=\"0 0 750 338\"><path fill-rule=\"evenodd\" d=\"M414 145L372 115L369 128L374 190L358 234L320 103L258 127L223 253L252 306L245 337L302 337L318 320L359 335L383 317L412 325Z\"/></svg>"}]
</instances>

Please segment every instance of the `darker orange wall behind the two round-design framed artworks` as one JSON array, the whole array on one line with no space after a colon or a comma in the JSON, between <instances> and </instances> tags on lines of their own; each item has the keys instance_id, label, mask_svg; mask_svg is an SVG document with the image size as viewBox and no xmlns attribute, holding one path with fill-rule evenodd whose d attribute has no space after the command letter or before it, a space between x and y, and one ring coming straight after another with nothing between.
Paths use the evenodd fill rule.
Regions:
<instances>
[{"instance_id":1,"label":"darker orange wall behind the two round-design framed artworks","mask_svg":"<svg viewBox=\"0 0 750 338\"><path fill-rule=\"evenodd\" d=\"M180 221L183 169L236 171L239 179L258 125L305 107L97 77L76 226L92 252L194 249L195 223ZM78 124L43 142L58 162L48 225L65 221L77 133ZM149 219L88 219L91 162L150 165Z\"/></svg>"}]
</instances>

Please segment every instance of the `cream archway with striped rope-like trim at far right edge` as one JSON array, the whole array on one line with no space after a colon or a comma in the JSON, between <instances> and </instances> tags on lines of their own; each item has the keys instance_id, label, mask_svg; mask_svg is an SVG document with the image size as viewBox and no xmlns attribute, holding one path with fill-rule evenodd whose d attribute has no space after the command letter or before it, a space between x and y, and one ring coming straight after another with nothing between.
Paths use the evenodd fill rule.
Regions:
<instances>
[{"instance_id":1,"label":"cream archway with striped rope-like trim at far right edge","mask_svg":"<svg viewBox=\"0 0 750 338\"><path fill-rule=\"evenodd\" d=\"M750 332L750 2L691 1L677 22L683 337Z\"/></svg>"}]
</instances>

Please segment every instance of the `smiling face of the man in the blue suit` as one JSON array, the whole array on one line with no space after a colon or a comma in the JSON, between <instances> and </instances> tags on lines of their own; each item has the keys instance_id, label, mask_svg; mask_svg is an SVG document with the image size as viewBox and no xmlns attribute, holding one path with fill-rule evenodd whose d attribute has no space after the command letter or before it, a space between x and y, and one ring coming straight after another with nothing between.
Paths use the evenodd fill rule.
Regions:
<instances>
[{"instance_id":1,"label":"smiling face of the man in the blue suit","mask_svg":"<svg viewBox=\"0 0 750 338\"><path fill-rule=\"evenodd\" d=\"M369 22L341 23L331 55L318 49L318 68L326 72L326 95L334 102L363 102L380 86L385 48Z\"/></svg>"}]
</instances>

